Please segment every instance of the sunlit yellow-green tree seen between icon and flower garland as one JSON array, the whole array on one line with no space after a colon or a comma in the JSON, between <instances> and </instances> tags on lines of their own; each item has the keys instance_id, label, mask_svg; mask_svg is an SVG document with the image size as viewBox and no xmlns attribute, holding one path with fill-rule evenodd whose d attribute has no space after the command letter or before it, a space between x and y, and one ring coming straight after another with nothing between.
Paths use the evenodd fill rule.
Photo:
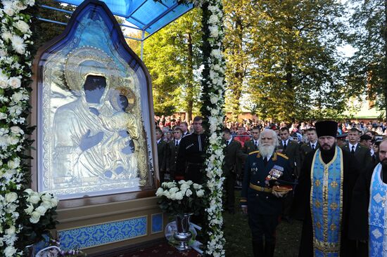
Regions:
<instances>
[{"instance_id":1,"label":"sunlit yellow-green tree seen between icon and flower garland","mask_svg":"<svg viewBox=\"0 0 387 257\"><path fill-rule=\"evenodd\" d=\"M198 107L201 65L201 11L198 8L153 34L144 44L144 62L151 72L156 114Z\"/></svg>"}]
</instances>

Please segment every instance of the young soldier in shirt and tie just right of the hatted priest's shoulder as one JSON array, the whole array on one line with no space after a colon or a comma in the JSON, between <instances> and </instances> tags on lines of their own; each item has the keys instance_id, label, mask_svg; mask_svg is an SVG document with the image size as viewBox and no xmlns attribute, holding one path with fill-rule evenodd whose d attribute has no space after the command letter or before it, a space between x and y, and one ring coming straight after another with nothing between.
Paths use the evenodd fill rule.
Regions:
<instances>
[{"instance_id":1,"label":"young soldier in shirt and tie just right of the hatted priest's shoulder","mask_svg":"<svg viewBox=\"0 0 387 257\"><path fill-rule=\"evenodd\" d=\"M364 171L366 167L372 164L371 151L368 147L360 145L360 131L352 128L348 131L348 144L341 147L342 150L350 152L355 156L360 164L360 171Z\"/></svg>"}]
</instances>

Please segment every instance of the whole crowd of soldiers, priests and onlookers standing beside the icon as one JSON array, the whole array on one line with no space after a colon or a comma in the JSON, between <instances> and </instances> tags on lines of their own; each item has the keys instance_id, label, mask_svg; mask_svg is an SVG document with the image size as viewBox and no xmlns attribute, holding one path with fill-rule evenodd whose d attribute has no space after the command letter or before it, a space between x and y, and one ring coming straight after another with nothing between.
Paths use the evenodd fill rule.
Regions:
<instances>
[{"instance_id":1,"label":"whole crowd of soldiers, priests and onlookers standing beside the icon","mask_svg":"<svg viewBox=\"0 0 387 257\"><path fill-rule=\"evenodd\" d=\"M203 117L156 122L158 150L164 145L158 152L160 180L203 183ZM299 256L387 256L386 128L362 121L226 119L224 211L235 213L234 185L243 178L241 209L248 215L254 256L273 256L279 220L293 218L303 220Z\"/></svg>"}]
</instances>

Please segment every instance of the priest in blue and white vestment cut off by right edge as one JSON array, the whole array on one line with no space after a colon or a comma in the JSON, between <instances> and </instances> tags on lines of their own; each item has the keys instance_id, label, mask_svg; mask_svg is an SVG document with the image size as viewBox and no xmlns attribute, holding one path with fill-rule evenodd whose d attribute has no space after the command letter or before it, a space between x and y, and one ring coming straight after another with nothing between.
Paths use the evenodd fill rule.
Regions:
<instances>
[{"instance_id":1,"label":"priest in blue and white vestment cut off by right edge","mask_svg":"<svg viewBox=\"0 0 387 257\"><path fill-rule=\"evenodd\" d=\"M379 145L379 163L360 173L350 216L350 237L358 257L387 256L387 140Z\"/></svg>"}]
</instances>

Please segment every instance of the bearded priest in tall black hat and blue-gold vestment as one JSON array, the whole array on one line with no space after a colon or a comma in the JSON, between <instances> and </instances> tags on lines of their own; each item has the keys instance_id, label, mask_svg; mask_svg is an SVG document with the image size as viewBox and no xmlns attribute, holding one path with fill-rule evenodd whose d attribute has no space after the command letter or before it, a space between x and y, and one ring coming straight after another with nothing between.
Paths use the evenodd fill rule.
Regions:
<instances>
[{"instance_id":1,"label":"bearded priest in tall black hat and blue-gold vestment","mask_svg":"<svg viewBox=\"0 0 387 257\"><path fill-rule=\"evenodd\" d=\"M355 256L348 218L359 164L336 145L335 121L315 126L320 147L305 157L292 206L293 218L303 220L298 256Z\"/></svg>"}]
</instances>

